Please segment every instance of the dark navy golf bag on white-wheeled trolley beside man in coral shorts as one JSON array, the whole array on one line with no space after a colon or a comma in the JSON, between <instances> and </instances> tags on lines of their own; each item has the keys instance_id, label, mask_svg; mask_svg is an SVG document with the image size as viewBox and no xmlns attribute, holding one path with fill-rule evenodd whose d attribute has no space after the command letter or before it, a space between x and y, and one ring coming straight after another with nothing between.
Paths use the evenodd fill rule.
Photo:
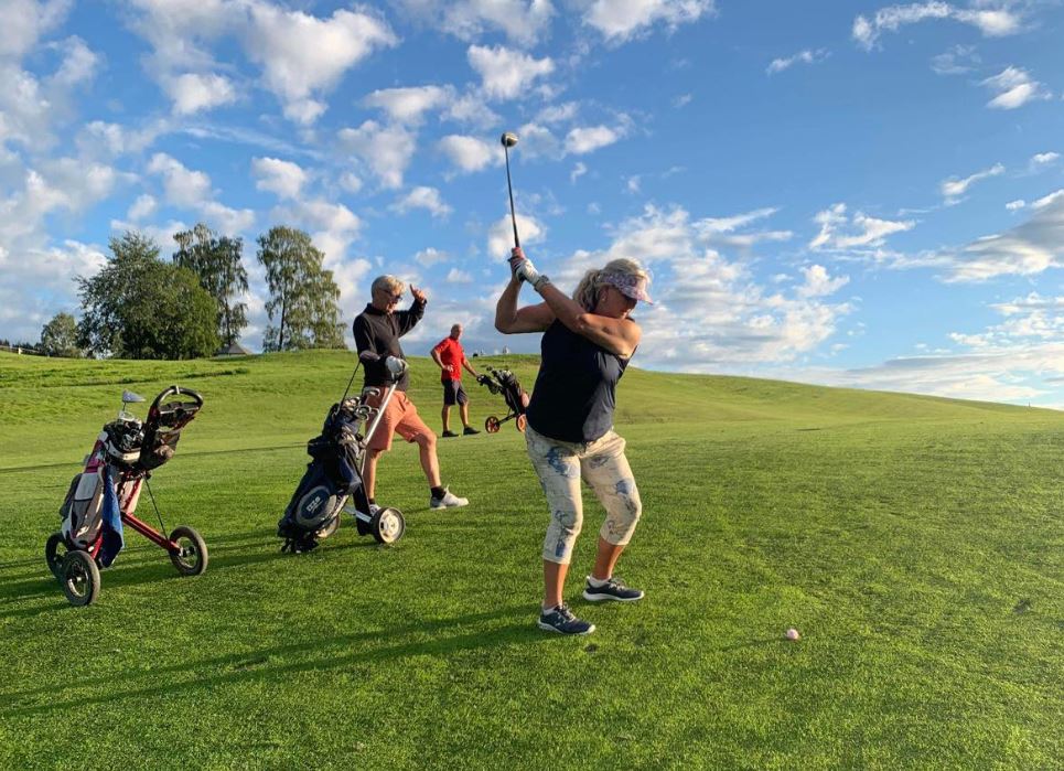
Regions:
<instances>
[{"instance_id":1,"label":"dark navy golf bag on white-wheeled trolley beside man in coral shorts","mask_svg":"<svg viewBox=\"0 0 1064 771\"><path fill-rule=\"evenodd\" d=\"M358 398L347 398L345 392L343 398L330 407L322 432L307 442L312 460L277 523L277 535L284 539L281 552L300 554L315 548L320 540L336 532L348 501L353 504L348 511L354 510L358 535L372 535L379 544L394 544L402 537L406 531L402 512L370 506L362 476L369 438L384 417L406 371L406 362L389 356L388 367L394 379L378 406L372 406L372 401L380 396L379 388L365 388ZM363 425L366 425L365 436L359 431Z\"/></svg>"}]
</instances>

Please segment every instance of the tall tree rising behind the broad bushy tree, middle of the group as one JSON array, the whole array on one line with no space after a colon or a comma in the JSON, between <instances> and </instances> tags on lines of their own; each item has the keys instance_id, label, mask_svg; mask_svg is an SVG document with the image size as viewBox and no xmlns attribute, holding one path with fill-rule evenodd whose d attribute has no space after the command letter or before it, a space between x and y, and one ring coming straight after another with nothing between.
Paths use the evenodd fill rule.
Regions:
<instances>
[{"instance_id":1,"label":"tall tree rising behind the broad bushy tree, middle of the group","mask_svg":"<svg viewBox=\"0 0 1064 771\"><path fill-rule=\"evenodd\" d=\"M191 231L175 233L173 239L178 242L174 265L189 268L200 277L200 285L218 306L217 330L222 344L232 345L247 326L247 303L237 301L248 289L247 270L240 259L244 240L218 236L203 223Z\"/></svg>"}]
</instances>

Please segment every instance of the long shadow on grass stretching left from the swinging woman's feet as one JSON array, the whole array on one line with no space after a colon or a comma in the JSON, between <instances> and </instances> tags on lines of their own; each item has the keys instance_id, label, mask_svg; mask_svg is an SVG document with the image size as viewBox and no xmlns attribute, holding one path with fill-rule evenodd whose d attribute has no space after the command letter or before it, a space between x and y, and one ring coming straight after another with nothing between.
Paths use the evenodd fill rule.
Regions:
<instances>
[{"instance_id":1,"label":"long shadow on grass stretching left from the swinging woman's feet","mask_svg":"<svg viewBox=\"0 0 1064 771\"><path fill-rule=\"evenodd\" d=\"M503 627L469 630L469 627L483 625L499 619L516 619ZM415 634L432 634L431 640L404 641ZM116 677L115 690L107 694L85 695L46 704L19 704L36 700L41 695L55 695L54 686L44 686L7 695L7 705L0 709L0 717L30 717L51 711L82 710L87 706L110 704L126 699L154 697L213 689L218 686L236 685L260 679L282 681L301 673L330 672L361 664L383 664L411 656L451 656L463 651L494 649L503 645L545 643L554 640L536 629L529 621L526 606L514 606L492 612L471 613L445 619L421 620L391 629L370 630L331 638L301 640L297 643L261 649L249 653L232 654L204 658L197 662L153 667L150 671L129 673ZM368 646L351 651L354 646ZM310 655L307 655L311 652ZM270 664L271 660L298 654L301 661L284 664ZM212 673L224 668L226 672ZM178 682L160 683L168 676L185 677ZM147 681L138 684L137 681Z\"/></svg>"}]
</instances>

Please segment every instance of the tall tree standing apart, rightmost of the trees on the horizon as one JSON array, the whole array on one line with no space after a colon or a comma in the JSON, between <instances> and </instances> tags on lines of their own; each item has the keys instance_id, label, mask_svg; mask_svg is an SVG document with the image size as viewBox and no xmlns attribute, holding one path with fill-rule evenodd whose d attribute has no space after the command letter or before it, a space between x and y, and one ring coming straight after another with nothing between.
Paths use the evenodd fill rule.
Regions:
<instances>
[{"instance_id":1,"label":"tall tree standing apart, rightmost of the trees on the horizon","mask_svg":"<svg viewBox=\"0 0 1064 771\"><path fill-rule=\"evenodd\" d=\"M273 227L258 238L258 258L266 268L270 324L262 339L265 351L345 347L340 321L340 288L332 270L322 267L324 255L308 234Z\"/></svg>"}]
</instances>

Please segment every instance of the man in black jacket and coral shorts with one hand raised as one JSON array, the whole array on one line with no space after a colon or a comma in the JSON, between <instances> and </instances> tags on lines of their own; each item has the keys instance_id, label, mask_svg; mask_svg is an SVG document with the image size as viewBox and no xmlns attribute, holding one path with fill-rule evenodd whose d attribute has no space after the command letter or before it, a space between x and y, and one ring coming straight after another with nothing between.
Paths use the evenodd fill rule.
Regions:
<instances>
[{"instance_id":1,"label":"man in black jacket and coral shorts with one hand raised","mask_svg":"<svg viewBox=\"0 0 1064 771\"><path fill-rule=\"evenodd\" d=\"M373 297L366 309L355 317L354 333L355 347L365 367L366 378L364 387L374 386L380 389L377 401L379 405L385 388L391 384L393 375L388 368L389 357L402 358L402 347L399 338L412 330L424 314L427 302L424 292L417 287L410 287L413 303L408 310L397 311L395 307L402 299L406 285L395 276L378 276L373 282ZM436 454L436 433L424 425L418 416L418 408L407 397L406 390L410 377L404 371L399 376L396 392L385 409L384 417L377 425L377 430L368 438L366 449L366 464L363 469L363 483L370 507L376 506L374 488L376 485L377 459L381 452L391 449L391 437L398 433L409 442L417 442L421 458L421 469L429 482L431 493L430 508L454 508L469 504L469 500L459 497L443 486L440 479L440 461Z\"/></svg>"}]
</instances>

